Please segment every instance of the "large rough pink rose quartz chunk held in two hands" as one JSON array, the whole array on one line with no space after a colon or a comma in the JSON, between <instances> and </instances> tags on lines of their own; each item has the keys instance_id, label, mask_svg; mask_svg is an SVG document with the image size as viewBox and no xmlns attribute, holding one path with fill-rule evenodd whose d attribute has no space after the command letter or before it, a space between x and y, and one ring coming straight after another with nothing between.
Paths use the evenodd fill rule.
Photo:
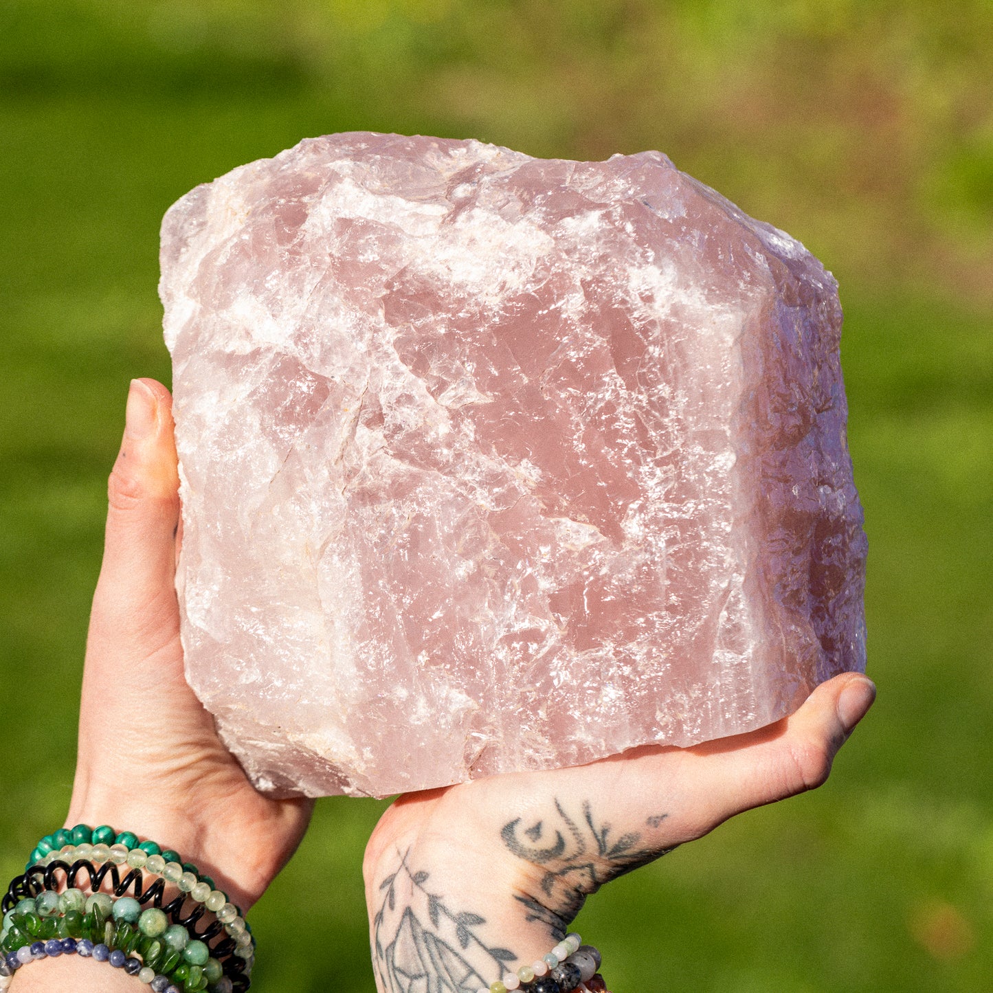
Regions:
<instances>
[{"instance_id":1,"label":"large rough pink rose quartz chunk held in two hands","mask_svg":"<svg viewBox=\"0 0 993 993\"><path fill-rule=\"evenodd\" d=\"M836 284L665 156L317 138L162 268L188 677L261 788L690 745L863 668Z\"/></svg>"}]
</instances>

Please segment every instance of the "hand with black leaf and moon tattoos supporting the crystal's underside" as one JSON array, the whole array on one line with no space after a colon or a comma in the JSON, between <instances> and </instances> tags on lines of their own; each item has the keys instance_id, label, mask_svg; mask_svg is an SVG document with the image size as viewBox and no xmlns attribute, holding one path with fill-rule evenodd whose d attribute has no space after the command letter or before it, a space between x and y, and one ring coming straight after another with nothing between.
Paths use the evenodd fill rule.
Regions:
<instances>
[{"instance_id":1,"label":"hand with black leaf and moon tattoos supporting the crystal's underside","mask_svg":"<svg viewBox=\"0 0 993 993\"><path fill-rule=\"evenodd\" d=\"M874 698L845 673L752 734L401 796L363 866L379 993L477 993L530 964L604 883L820 785Z\"/></svg>"}]
</instances>

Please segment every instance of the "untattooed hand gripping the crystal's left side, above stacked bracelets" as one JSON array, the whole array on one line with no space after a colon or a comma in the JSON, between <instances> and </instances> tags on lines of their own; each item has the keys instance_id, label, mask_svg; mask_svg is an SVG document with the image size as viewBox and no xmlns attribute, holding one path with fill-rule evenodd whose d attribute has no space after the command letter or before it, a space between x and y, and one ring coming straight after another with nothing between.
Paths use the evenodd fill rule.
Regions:
<instances>
[{"instance_id":1,"label":"untattooed hand gripping the crystal's left side, above stacked bracelets","mask_svg":"<svg viewBox=\"0 0 993 993\"><path fill-rule=\"evenodd\" d=\"M131 384L108 493L66 826L110 824L175 849L247 911L299 844L312 802L257 792L187 684L172 398L155 380Z\"/></svg>"}]
</instances>

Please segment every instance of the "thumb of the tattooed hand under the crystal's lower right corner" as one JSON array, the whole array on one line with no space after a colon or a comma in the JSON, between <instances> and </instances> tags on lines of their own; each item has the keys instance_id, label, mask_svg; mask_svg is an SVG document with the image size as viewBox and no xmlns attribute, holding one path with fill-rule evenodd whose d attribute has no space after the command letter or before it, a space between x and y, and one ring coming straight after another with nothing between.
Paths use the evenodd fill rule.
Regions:
<instances>
[{"instance_id":1,"label":"thumb of the tattooed hand under the crystal's lower right corner","mask_svg":"<svg viewBox=\"0 0 993 993\"><path fill-rule=\"evenodd\" d=\"M871 679L843 673L818 686L796 713L768 728L687 749L687 775L698 808L713 821L710 826L819 786L875 699Z\"/></svg>"}]
</instances>

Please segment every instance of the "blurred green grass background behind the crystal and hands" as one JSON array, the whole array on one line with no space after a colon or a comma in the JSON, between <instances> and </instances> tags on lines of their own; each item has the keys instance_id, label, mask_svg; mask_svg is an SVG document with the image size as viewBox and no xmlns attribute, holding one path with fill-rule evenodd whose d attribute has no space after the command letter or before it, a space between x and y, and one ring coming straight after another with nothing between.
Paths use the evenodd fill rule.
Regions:
<instances>
[{"instance_id":1,"label":"blurred green grass background behind the crystal and hands","mask_svg":"<svg viewBox=\"0 0 993 993\"><path fill-rule=\"evenodd\" d=\"M0 871L67 807L127 382L170 377L166 208L353 128L659 148L839 278L880 698L822 789L580 928L619 993L991 988L990 37L987 0L0 0ZM380 808L319 805L253 913L260 990L371 989Z\"/></svg>"}]
</instances>

